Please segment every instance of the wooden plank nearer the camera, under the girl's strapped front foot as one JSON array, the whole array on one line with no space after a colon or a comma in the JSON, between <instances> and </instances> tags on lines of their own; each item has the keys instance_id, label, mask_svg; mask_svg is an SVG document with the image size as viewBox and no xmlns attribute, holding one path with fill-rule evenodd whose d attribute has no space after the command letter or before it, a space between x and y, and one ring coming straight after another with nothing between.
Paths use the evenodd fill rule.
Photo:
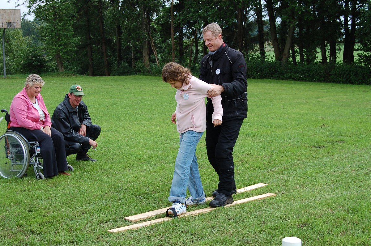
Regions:
<instances>
[{"instance_id":1,"label":"wooden plank nearer the camera, under the girl's strapped front foot","mask_svg":"<svg viewBox=\"0 0 371 246\"><path fill-rule=\"evenodd\" d=\"M224 207L230 207L230 206L234 206L234 205L237 205L237 204L247 203L249 201L261 200L261 199L265 199L267 197L273 197L273 196L277 196L277 195L274 194L274 193L266 193L266 194L262 194L262 195L259 195L259 196L253 196L253 197L237 200L237 201L234 201L234 203L227 204ZM204 208L204 209L198 209L198 210L194 210L194 211L190 211L190 212L187 212L185 214L182 214L182 215L178 216L178 218L203 214L203 213L210 212L211 210L214 210L214 209L217 209L217 208L216 207L207 207L207 208ZM173 219L172 217L164 217L164 218L150 220L150 221L141 222L141 223L137 223L137 224L131 224L129 226L119 227L119 228L116 228L116 229L111 229L111 230L108 230L108 232L117 233L117 232L124 232L126 230L134 230L134 229L150 226L152 224L158 224L158 223L161 223L161 222L164 222L164 221L172 220L172 219Z\"/></svg>"}]
</instances>

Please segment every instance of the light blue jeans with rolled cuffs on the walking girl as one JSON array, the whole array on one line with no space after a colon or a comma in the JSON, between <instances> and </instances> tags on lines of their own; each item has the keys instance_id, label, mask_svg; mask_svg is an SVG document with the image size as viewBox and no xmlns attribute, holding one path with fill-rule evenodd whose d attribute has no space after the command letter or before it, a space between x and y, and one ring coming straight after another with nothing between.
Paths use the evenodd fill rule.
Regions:
<instances>
[{"instance_id":1,"label":"light blue jeans with rolled cuffs on the walking girl","mask_svg":"<svg viewBox=\"0 0 371 246\"><path fill-rule=\"evenodd\" d=\"M196 157L196 147L203 132L188 130L179 135L180 147L175 160L169 201L185 203L187 187L194 200L203 200L206 195L201 183Z\"/></svg>"}]
</instances>

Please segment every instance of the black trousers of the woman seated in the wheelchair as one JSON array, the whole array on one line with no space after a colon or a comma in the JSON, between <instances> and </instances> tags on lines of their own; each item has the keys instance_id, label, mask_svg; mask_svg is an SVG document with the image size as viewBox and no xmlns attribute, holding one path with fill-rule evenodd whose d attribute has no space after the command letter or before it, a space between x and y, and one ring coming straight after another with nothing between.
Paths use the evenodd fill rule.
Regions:
<instances>
[{"instance_id":1,"label":"black trousers of the woman seated in the wheelchair","mask_svg":"<svg viewBox=\"0 0 371 246\"><path fill-rule=\"evenodd\" d=\"M43 159L43 174L46 178L68 170L63 135L55 128L50 128L51 137L43 131L23 127L10 127L9 130L19 132L28 141L39 142Z\"/></svg>"}]
</instances>

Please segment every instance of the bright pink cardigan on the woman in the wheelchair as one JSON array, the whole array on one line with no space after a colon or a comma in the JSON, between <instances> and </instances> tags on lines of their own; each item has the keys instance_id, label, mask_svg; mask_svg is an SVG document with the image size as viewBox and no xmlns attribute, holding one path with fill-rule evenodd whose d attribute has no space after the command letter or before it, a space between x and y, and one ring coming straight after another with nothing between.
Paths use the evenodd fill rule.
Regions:
<instances>
[{"instance_id":1,"label":"bright pink cardigan on the woman in the wheelchair","mask_svg":"<svg viewBox=\"0 0 371 246\"><path fill-rule=\"evenodd\" d=\"M10 127L23 127L30 130L40 130L40 126L51 126L50 115L47 112L43 97L39 93L36 96L37 102L41 110L45 114L45 121L40 121L40 114L36 108L32 106L32 102L27 96L26 88L23 88L17 95L14 96L10 105Z\"/></svg>"}]
</instances>

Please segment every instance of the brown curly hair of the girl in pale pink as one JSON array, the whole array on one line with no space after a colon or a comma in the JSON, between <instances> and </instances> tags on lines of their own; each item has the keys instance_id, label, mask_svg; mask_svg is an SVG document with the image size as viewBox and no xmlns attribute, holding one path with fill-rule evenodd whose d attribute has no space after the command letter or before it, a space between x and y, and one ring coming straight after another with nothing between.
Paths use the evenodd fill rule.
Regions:
<instances>
[{"instance_id":1,"label":"brown curly hair of the girl in pale pink","mask_svg":"<svg viewBox=\"0 0 371 246\"><path fill-rule=\"evenodd\" d=\"M162 68L162 81L181 81L186 85L189 84L189 76L192 75L191 70L184 68L182 65L176 62L166 63Z\"/></svg>"}]
</instances>

